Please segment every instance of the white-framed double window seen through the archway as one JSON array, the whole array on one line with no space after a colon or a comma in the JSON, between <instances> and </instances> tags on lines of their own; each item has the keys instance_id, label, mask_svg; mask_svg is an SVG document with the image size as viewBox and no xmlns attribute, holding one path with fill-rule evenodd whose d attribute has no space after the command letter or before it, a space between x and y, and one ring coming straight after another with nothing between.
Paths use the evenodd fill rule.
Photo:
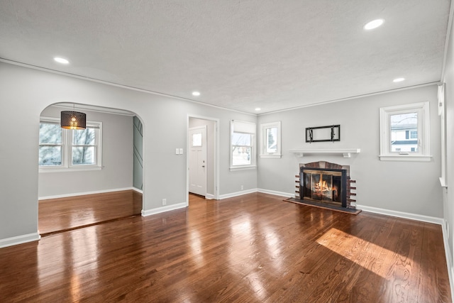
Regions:
<instances>
[{"instance_id":1,"label":"white-framed double window seen through the archway","mask_svg":"<svg viewBox=\"0 0 454 303\"><path fill-rule=\"evenodd\" d=\"M87 121L87 128L60 128L60 120L41 118L40 171L101 169L101 122Z\"/></svg>"}]
</instances>

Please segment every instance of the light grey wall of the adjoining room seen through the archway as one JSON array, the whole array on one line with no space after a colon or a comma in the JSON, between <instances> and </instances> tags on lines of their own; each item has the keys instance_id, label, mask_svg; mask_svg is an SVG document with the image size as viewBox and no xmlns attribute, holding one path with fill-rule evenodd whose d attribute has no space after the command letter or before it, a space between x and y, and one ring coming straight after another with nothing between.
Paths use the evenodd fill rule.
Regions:
<instances>
[{"instance_id":1,"label":"light grey wall of the adjoining room seen through the archway","mask_svg":"<svg viewBox=\"0 0 454 303\"><path fill-rule=\"evenodd\" d=\"M67 108L49 106L41 116L60 118ZM65 196L133 186L133 117L80 110L87 121L103 123L102 170L40 172L38 197Z\"/></svg>"}]
</instances>

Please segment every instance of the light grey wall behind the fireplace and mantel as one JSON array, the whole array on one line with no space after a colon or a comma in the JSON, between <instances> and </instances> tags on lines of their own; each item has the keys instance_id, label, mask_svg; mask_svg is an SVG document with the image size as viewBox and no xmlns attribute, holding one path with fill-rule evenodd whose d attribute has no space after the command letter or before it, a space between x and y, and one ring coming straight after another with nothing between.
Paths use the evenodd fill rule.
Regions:
<instances>
[{"instance_id":1,"label":"light grey wall behind the fireplace and mantel","mask_svg":"<svg viewBox=\"0 0 454 303\"><path fill-rule=\"evenodd\" d=\"M380 161L379 109L382 106L430 101L431 162ZM420 87L378 94L293 111L259 116L260 123L282 121L282 158L260 159L258 187L294 194L299 163L326 160L351 165L351 177L357 180L357 203L380 209L423 216L443 217L443 198L438 181L440 164L440 120L437 111L437 87ZM341 141L305 143L306 127L341 125ZM297 158L294 148L360 148L352 158L309 155Z\"/></svg>"}]
</instances>

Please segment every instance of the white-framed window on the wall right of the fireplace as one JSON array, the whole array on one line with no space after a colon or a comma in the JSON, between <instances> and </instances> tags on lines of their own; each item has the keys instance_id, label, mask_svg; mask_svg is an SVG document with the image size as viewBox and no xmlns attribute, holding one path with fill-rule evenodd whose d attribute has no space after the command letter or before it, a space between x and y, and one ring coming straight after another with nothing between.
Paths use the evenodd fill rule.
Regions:
<instances>
[{"instance_id":1,"label":"white-framed window on the wall right of the fireplace","mask_svg":"<svg viewBox=\"0 0 454 303\"><path fill-rule=\"evenodd\" d=\"M429 103L380 109L380 160L430 161Z\"/></svg>"}]
</instances>

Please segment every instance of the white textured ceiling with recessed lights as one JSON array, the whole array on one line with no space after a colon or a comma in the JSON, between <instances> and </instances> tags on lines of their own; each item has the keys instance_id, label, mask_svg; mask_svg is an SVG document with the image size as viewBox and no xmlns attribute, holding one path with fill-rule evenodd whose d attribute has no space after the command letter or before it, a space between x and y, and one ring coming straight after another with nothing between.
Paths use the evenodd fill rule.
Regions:
<instances>
[{"instance_id":1,"label":"white textured ceiling with recessed lights","mask_svg":"<svg viewBox=\"0 0 454 303\"><path fill-rule=\"evenodd\" d=\"M0 58L260 114L440 81L449 11L450 0L0 0ZM384 25L363 30L375 18Z\"/></svg>"}]
</instances>

